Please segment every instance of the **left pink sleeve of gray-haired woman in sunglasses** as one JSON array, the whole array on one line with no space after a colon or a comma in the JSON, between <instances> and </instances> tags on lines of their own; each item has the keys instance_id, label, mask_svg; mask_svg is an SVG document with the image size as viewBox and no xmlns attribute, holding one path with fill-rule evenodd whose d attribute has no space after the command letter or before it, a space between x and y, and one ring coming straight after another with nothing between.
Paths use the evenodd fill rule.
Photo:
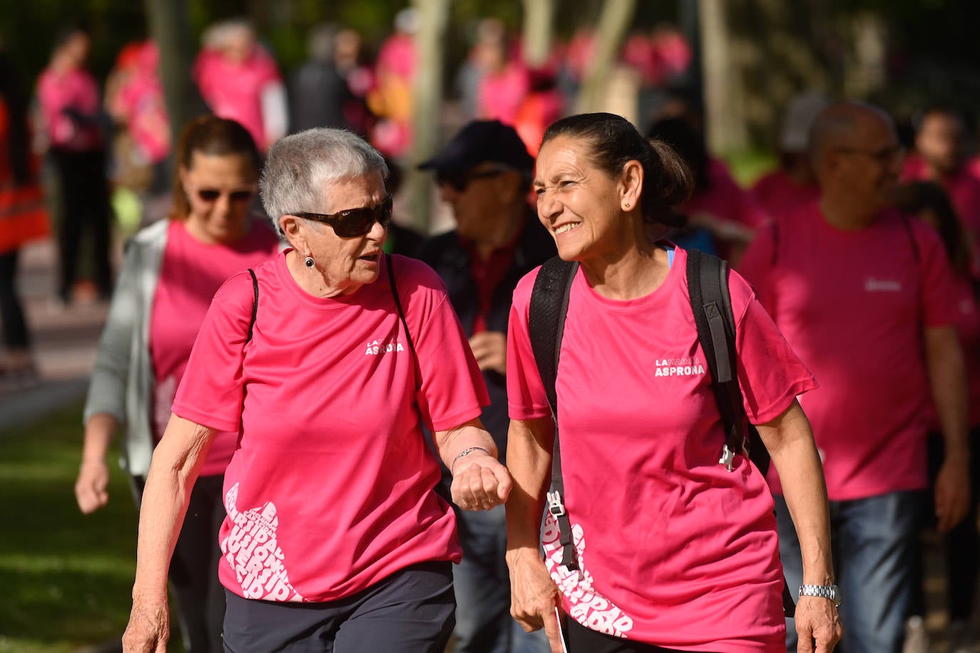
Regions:
<instances>
[{"instance_id":1,"label":"left pink sleeve of gray-haired woman in sunglasses","mask_svg":"<svg viewBox=\"0 0 980 653\"><path fill-rule=\"evenodd\" d=\"M173 400L175 415L204 427L238 430L243 352L254 301L248 273L232 276L215 293Z\"/></svg>"}]
</instances>

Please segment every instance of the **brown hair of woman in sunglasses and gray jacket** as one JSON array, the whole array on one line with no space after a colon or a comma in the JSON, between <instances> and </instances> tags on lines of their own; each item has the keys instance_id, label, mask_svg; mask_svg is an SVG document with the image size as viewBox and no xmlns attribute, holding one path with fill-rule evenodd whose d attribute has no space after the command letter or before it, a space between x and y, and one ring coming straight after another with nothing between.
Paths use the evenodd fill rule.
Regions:
<instances>
[{"instance_id":1,"label":"brown hair of woman in sunglasses and gray jacket","mask_svg":"<svg viewBox=\"0 0 980 653\"><path fill-rule=\"evenodd\" d=\"M184 126L177 142L176 170L173 171L172 218L185 220L190 213L190 203L180 183L180 170L190 170L194 153L208 156L240 155L246 157L259 179L262 157L248 129L226 118L199 116Z\"/></svg>"}]
</instances>

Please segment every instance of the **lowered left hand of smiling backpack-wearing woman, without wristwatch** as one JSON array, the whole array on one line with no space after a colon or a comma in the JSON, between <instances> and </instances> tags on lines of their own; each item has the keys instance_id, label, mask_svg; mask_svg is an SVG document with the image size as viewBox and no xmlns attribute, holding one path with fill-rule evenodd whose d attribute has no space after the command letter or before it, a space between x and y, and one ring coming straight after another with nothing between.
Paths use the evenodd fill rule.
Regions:
<instances>
[{"instance_id":1,"label":"lowered left hand of smiling backpack-wearing woman, without wristwatch","mask_svg":"<svg viewBox=\"0 0 980 653\"><path fill-rule=\"evenodd\" d=\"M507 564L511 570L511 616L526 632L544 628L552 653L563 653L564 644L555 613L556 606L561 606L562 602L558 586L538 552L531 549L509 551Z\"/></svg>"}]
</instances>

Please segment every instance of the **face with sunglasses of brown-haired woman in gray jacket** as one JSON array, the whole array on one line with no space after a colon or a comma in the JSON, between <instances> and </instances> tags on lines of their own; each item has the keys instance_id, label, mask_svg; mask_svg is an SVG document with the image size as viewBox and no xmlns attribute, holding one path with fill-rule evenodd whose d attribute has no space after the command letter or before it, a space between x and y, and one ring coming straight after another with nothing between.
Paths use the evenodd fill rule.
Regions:
<instances>
[{"instance_id":1,"label":"face with sunglasses of brown-haired woman in gray jacket","mask_svg":"<svg viewBox=\"0 0 980 653\"><path fill-rule=\"evenodd\" d=\"M226 244L241 238L248 230L256 176L248 156L193 152L190 167L180 169L180 183L190 207L188 232L205 243Z\"/></svg>"}]
</instances>

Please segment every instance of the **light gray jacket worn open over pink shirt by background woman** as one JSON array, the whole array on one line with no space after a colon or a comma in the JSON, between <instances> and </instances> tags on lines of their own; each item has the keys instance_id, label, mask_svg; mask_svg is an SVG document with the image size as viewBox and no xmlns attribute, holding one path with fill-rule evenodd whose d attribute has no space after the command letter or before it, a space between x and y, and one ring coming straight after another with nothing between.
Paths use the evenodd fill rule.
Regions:
<instances>
[{"instance_id":1,"label":"light gray jacket worn open over pink shirt by background woman","mask_svg":"<svg viewBox=\"0 0 980 653\"><path fill-rule=\"evenodd\" d=\"M169 220L147 226L126 245L85 400L84 423L109 413L125 430L123 469L145 477L153 456L150 310L167 246Z\"/></svg>"}]
</instances>

